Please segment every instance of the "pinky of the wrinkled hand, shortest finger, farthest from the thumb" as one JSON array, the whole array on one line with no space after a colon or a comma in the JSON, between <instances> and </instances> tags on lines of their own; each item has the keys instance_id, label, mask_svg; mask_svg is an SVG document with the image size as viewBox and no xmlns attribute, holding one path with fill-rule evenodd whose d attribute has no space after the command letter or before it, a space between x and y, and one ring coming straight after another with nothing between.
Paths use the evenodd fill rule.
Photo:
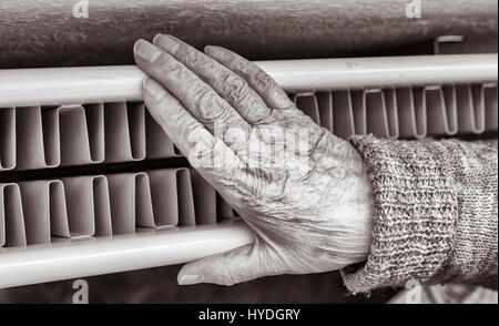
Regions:
<instances>
[{"instance_id":1,"label":"pinky of the wrinkled hand, shortest finger, farthest from the thumb","mask_svg":"<svg viewBox=\"0 0 499 326\"><path fill-rule=\"evenodd\" d=\"M207 45L204 52L245 79L271 109L295 108L284 90L255 63L222 47Z\"/></svg>"}]
</instances>

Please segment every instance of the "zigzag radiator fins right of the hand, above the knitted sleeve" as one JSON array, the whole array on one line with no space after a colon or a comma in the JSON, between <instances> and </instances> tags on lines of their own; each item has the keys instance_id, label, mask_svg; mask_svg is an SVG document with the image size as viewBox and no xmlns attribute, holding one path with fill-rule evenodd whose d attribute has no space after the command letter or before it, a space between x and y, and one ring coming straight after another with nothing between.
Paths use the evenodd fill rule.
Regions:
<instances>
[{"instance_id":1,"label":"zigzag radiator fins right of the hand, above the knitted sleeve","mask_svg":"<svg viewBox=\"0 0 499 326\"><path fill-rule=\"evenodd\" d=\"M342 137L497 133L497 83L301 92L292 98L315 122Z\"/></svg>"}]
</instances>

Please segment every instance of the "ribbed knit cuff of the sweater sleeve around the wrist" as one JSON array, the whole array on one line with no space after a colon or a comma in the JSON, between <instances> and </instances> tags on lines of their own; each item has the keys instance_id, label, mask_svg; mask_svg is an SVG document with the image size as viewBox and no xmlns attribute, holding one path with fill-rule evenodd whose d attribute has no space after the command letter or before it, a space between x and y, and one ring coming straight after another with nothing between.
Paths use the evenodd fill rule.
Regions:
<instances>
[{"instance_id":1,"label":"ribbed knit cuff of the sweater sleeve around the wrist","mask_svg":"<svg viewBox=\"0 0 499 326\"><path fill-rule=\"evenodd\" d=\"M342 271L353 293L407 281L426 282L445 271L458 217L446 143L353 136L374 195L370 254Z\"/></svg>"}]
</instances>

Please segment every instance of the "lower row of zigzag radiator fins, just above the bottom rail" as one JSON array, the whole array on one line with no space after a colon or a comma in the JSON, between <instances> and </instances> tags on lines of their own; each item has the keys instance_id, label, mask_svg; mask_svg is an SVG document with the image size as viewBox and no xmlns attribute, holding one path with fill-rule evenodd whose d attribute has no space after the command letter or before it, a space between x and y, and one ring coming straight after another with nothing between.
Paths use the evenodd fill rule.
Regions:
<instances>
[{"instance_id":1,"label":"lower row of zigzag radiator fins, just above the bottom rail","mask_svg":"<svg viewBox=\"0 0 499 326\"><path fill-rule=\"evenodd\" d=\"M192 169L0 184L0 246L213 225L234 212Z\"/></svg>"}]
</instances>

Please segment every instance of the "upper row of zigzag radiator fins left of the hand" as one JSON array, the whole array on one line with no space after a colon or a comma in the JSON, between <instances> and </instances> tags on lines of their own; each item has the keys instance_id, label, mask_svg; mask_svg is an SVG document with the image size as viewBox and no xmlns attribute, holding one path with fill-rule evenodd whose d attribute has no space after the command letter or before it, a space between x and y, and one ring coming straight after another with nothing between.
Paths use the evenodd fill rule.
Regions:
<instances>
[{"instance_id":1,"label":"upper row of zigzag radiator fins left of the hand","mask_svg":"<svg viewBox=\"0 0 499 326\"><path fill-rule=\"evenodd\" d=\"M143 103L0 109L1 170L177 156Z\"/></svg>"}]
</instances>

